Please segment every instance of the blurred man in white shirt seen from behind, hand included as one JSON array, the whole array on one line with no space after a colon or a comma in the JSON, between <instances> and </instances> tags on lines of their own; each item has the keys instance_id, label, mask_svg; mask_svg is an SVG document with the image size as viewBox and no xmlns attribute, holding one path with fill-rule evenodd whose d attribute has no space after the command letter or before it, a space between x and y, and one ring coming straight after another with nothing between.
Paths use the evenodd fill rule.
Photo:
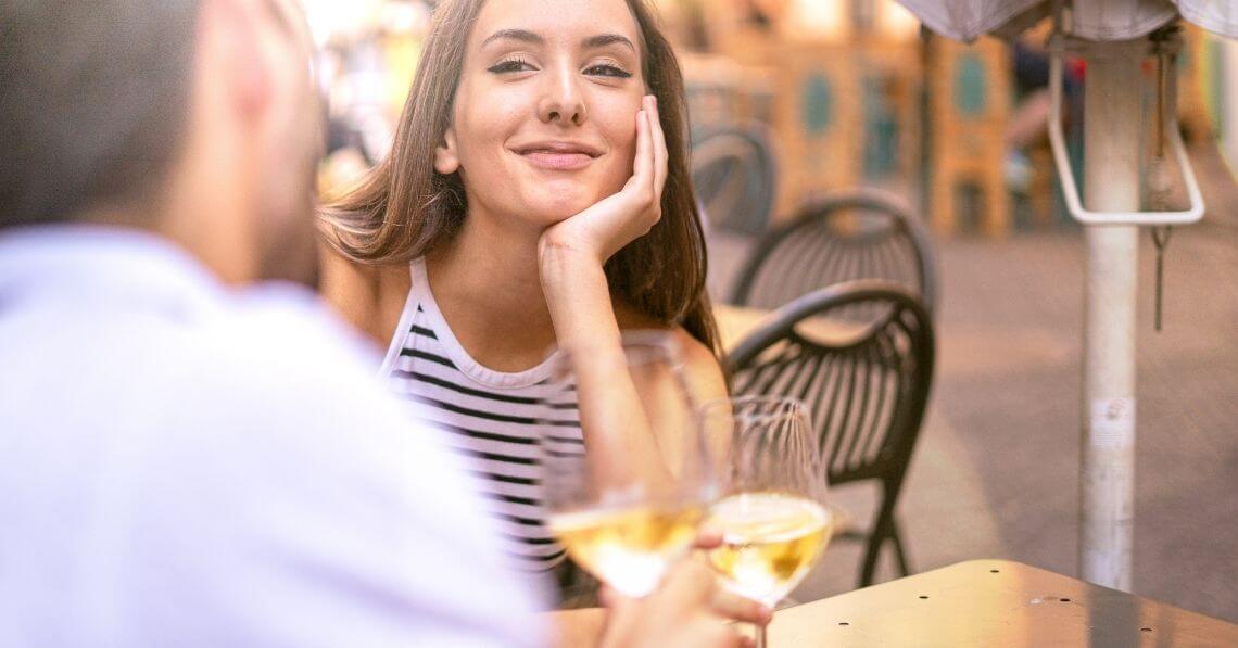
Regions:
<instances>
[{"instance_id":1,"label":"blurred man in white shirt seen from behind, hand included","mask_svg":"<svg viewBox=\"0 0 1238 648\"><path fill-rule=\"evenodd\" d=\"M253 287L316 271L308 47L292 0L0 0L0 646L541 643L370 351ZM604 642L733 642L712 596Z\"/></svg>"}]
</instances>

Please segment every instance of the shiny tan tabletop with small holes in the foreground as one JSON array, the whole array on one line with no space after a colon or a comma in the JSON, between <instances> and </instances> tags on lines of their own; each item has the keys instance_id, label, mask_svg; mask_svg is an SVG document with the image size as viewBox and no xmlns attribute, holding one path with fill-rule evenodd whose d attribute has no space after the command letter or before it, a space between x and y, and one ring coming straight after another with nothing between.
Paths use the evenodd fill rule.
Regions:
<instances>
[{"instance_id":1,"label":"shiny tan tabletop with small holes in the foreground","mask_svg":"<svg viewBox=\"0 0 1238 648\"><path fill-rule=\"evenodd\" d=\"M971 560L781 610L768 646L1234 647L1238 625L1019 563Z\"/></svg>"}]
</instances>

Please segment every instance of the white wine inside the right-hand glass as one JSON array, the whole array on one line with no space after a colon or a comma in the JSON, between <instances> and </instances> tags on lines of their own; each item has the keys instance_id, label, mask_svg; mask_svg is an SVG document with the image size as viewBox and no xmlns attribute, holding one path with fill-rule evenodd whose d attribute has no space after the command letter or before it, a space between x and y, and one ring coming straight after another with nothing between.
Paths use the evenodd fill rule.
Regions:
<instances>
[{"instance_id":1,"label":"white wine inside the right-hand glass","mask_svg":"<svg viewBox=\"0 0 1238 648\"><path fill-rule=\"evenodd\" d=\"M832 518L811 500L755 492L714 505L709 526L722 532L722 545L709 552L709 563L727 587L773 606L825 552Z\"/></svg>"}]
</instances>

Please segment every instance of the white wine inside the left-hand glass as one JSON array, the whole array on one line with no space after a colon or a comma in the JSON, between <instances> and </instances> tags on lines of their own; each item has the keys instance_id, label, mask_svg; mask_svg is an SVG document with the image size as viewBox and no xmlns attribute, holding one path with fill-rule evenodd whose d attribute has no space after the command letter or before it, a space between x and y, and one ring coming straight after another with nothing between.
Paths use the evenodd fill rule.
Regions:
<instances>
[{"instance_id":1,"label":"white wine inside the left-hand glass","mask_svg":"<svg viewBox=\"0 0 1238 648\"><path fill-rule=\"evenodd\" d=\"M550 528L568 555L625 596L645 596L687 553L704 517L699 505L639 506L553 514Z\"/></svg>"}]
</instances>

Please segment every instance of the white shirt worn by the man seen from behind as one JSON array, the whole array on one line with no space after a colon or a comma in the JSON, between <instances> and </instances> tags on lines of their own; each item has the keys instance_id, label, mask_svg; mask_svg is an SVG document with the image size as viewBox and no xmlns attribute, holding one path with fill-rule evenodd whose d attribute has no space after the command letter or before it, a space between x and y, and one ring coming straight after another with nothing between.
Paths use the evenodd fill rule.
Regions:
<instances>
[{"instance_id":1,"label":"white shirt worn by the man seen from behind","mask_svg":"<svg viewBox=\"0 0 1238 648\"><path fill-rule=\"evenodd\" d=\"M0 646L540 644L352 340L154 236L0 236Z\"/></svg>"}]
</instances>

